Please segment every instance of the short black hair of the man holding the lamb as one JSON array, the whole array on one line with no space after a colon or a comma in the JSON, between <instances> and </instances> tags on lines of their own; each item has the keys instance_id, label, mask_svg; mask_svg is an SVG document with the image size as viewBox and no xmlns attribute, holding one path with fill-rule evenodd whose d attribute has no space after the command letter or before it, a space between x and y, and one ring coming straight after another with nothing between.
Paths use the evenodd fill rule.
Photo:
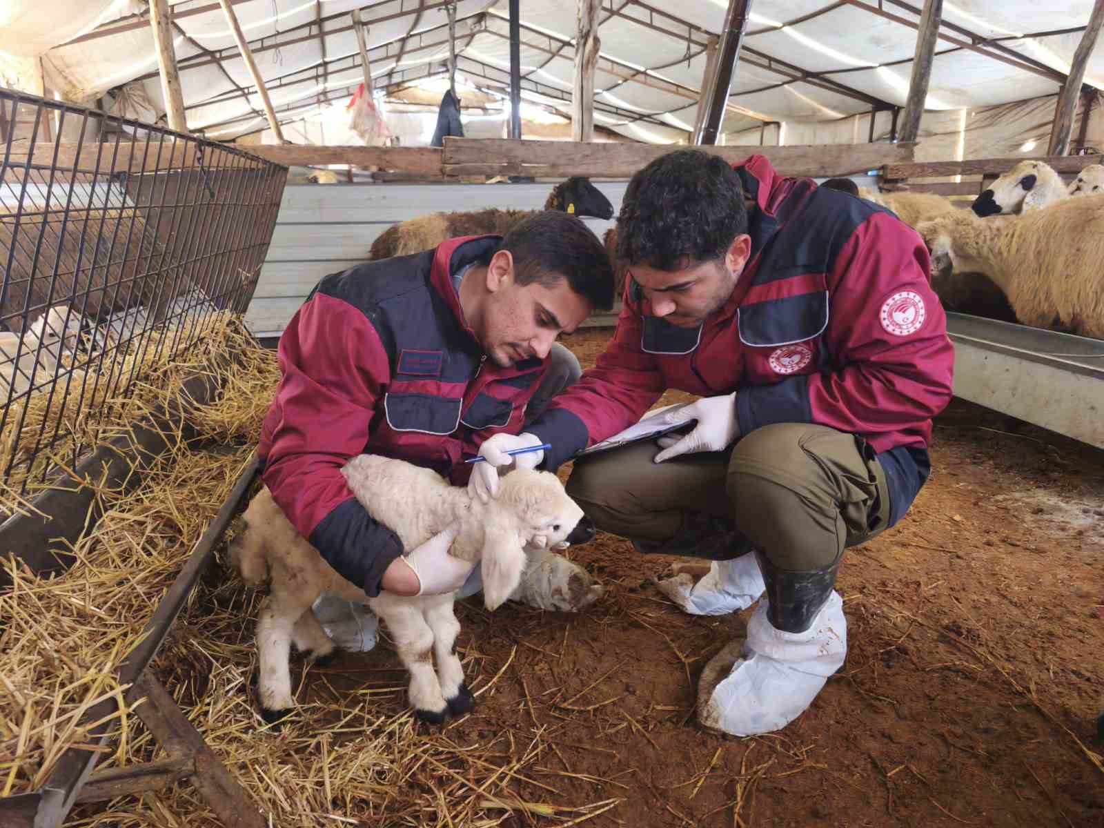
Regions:
<instances>
[{"instance_id":1,"label":"short black hair of the man holding the lamb","mask_svg":"<svg viewBox=\"0 0 1104 828\"><path fill-rule=\"evenodd\" d=\"M606 248L582 221L559 210L544 210L516 224L498 247L513 256L519 285L540 282L554 288L567 279L571 289L596 310L614 305L614 268Z\"/></svg>"}]
</instances>

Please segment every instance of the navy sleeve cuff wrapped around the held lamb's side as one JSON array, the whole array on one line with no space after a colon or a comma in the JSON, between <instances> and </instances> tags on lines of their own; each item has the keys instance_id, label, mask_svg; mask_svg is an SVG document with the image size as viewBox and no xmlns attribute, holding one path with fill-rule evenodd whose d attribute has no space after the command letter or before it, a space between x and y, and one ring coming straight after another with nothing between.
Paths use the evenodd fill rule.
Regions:
<instances>
[{"instance_id":1,"label":"navy sleeve cuff wrapped around the held lamb's side","mask_svg":"<svg viewBox=\"0 0 1104 828\"><path fill-rule=\"evenodd\" d=\"M383 573L403 553L399 535L372 520L355 498L341 502L315 527L310 543L341 577L380 594Z\"/></svg>"}]
</instances>

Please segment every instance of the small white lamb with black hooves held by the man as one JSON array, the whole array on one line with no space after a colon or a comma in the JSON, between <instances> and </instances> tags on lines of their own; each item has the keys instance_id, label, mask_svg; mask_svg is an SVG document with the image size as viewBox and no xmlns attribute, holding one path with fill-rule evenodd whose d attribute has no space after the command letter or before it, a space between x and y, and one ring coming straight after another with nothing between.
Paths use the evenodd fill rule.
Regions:
<instances>
[{"instance_id":1,"label":"small white lamb with black hooves held by the man","mask_svg":"<svg viewBox=\"0 0 1104 828\"><path fill-rule=\"evenodd\" d=\"M342 474L357 499L399 535L404 549L414 549L459 521L449 552L464 561L481 561L488 609L517 588L527 545L563 549L594 537L594 524L548 471L518 469L506 475L498 497L486 505L435 471L403 460L360 455L346 464ZM323 593L367 604L388 626L410 671L410 703L420 719L440 723L448 714L471 710L474 699L453 650L460 629L453 613L455 593L402 597L384 592L369 598L299 535L268 489L253 499L244 518L246 529L231 549L232 561L247 583L269 581L257 620L257 687L266 721L277 721L294 704L290 644L315 659L335 649L311 611Z\"/></svg>"}]
</instances>

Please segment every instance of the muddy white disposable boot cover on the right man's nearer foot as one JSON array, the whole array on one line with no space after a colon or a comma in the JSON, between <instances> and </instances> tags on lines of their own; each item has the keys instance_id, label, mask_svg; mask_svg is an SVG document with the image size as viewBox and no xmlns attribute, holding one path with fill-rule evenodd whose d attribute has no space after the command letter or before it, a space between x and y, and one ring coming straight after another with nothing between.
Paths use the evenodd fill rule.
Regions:
<instances>
[{"instance_id":1,"label":"muddy white disposable boot cover on the right man's nearer foot","mask_svg":"<svg viewBox=\"0 0 1104 828\"><path fill-rule=\"evenodd\" d=\"M702 671L698 721L704 726L736 736L781 730L808 709L842 666L847 619L839 593L832 592L804 633L775 629L766 611L764 599L747 622L747 639L739 652L741 641L733 641ZM718 673L728 664L731 671L721 678Z\"/></svg>"}]
</instances>

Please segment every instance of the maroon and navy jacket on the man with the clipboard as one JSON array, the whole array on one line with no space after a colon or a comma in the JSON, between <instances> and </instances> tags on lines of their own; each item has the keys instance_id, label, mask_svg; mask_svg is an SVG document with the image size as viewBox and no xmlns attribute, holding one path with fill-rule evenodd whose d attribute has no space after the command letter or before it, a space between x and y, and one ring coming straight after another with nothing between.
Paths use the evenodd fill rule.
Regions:
<instances>
[{"instance_id":1,"label":"maroon and navy jacket on the man with the clipboard","mask_svg":"<svg viewBox=\"0 0 1104 828\"><path fill-rule=\"evenodd\" d=\"M735 164L752 254L729 301L693 329L650 316L631 280L595 368L526 431L555 468L639 420L667 389L736 392L740 433L817 423L863 437L890 485L892 519L931 469L932 417L951 399L953 350L920 236L891 212L762 156Z\"/></svg>"}]
</instances>

